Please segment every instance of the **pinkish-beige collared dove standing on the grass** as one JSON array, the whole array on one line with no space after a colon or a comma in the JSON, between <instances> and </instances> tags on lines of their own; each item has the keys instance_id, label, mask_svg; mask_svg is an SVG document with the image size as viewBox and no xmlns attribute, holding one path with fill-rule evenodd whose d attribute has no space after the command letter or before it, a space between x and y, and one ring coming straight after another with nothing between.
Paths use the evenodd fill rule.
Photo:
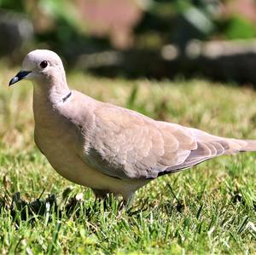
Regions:
<instances>
[{"instance_id":1,"label":"pinkish-beige collared dove standing on the grass","mask_svg":"<svg viewBox=\"0 0 256 255\"><path fill-rule=\"evenodd\" d=\"M37 49L9 85L31 79L35 142L55 171L90 187L97 197L122 195L161 175L223 154L256 150L256 141L212 136L202 130L155 121L69 90L61 59Z\"/></svg>"}]
</instances>

